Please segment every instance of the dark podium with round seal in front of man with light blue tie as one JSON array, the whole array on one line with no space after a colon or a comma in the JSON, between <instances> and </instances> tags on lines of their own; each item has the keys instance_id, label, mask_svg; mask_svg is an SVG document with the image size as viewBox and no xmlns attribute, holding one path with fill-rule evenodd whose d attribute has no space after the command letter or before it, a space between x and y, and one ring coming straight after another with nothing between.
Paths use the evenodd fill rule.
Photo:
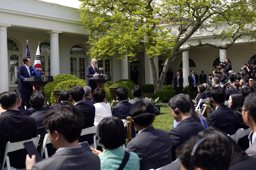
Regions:
<instances>
[{"instance_id":1,"label":"dark podium with round seal in front of man with light blue tie","mask_svg":"<svg viewBox=\"0 0 256 170\"><path fill-rule=\"evenodd\" d=\"M53 76L47 76L47 77L48 77L48 80L46 82L43 82L42 76L33 76L33 77L30 77L30 78L27 78L27 79L23 80L23 82L31 83L33 86L35 86L35 90L44 91L44 86L48 82L53 82Z\"/></svg>"}]
</instances>

